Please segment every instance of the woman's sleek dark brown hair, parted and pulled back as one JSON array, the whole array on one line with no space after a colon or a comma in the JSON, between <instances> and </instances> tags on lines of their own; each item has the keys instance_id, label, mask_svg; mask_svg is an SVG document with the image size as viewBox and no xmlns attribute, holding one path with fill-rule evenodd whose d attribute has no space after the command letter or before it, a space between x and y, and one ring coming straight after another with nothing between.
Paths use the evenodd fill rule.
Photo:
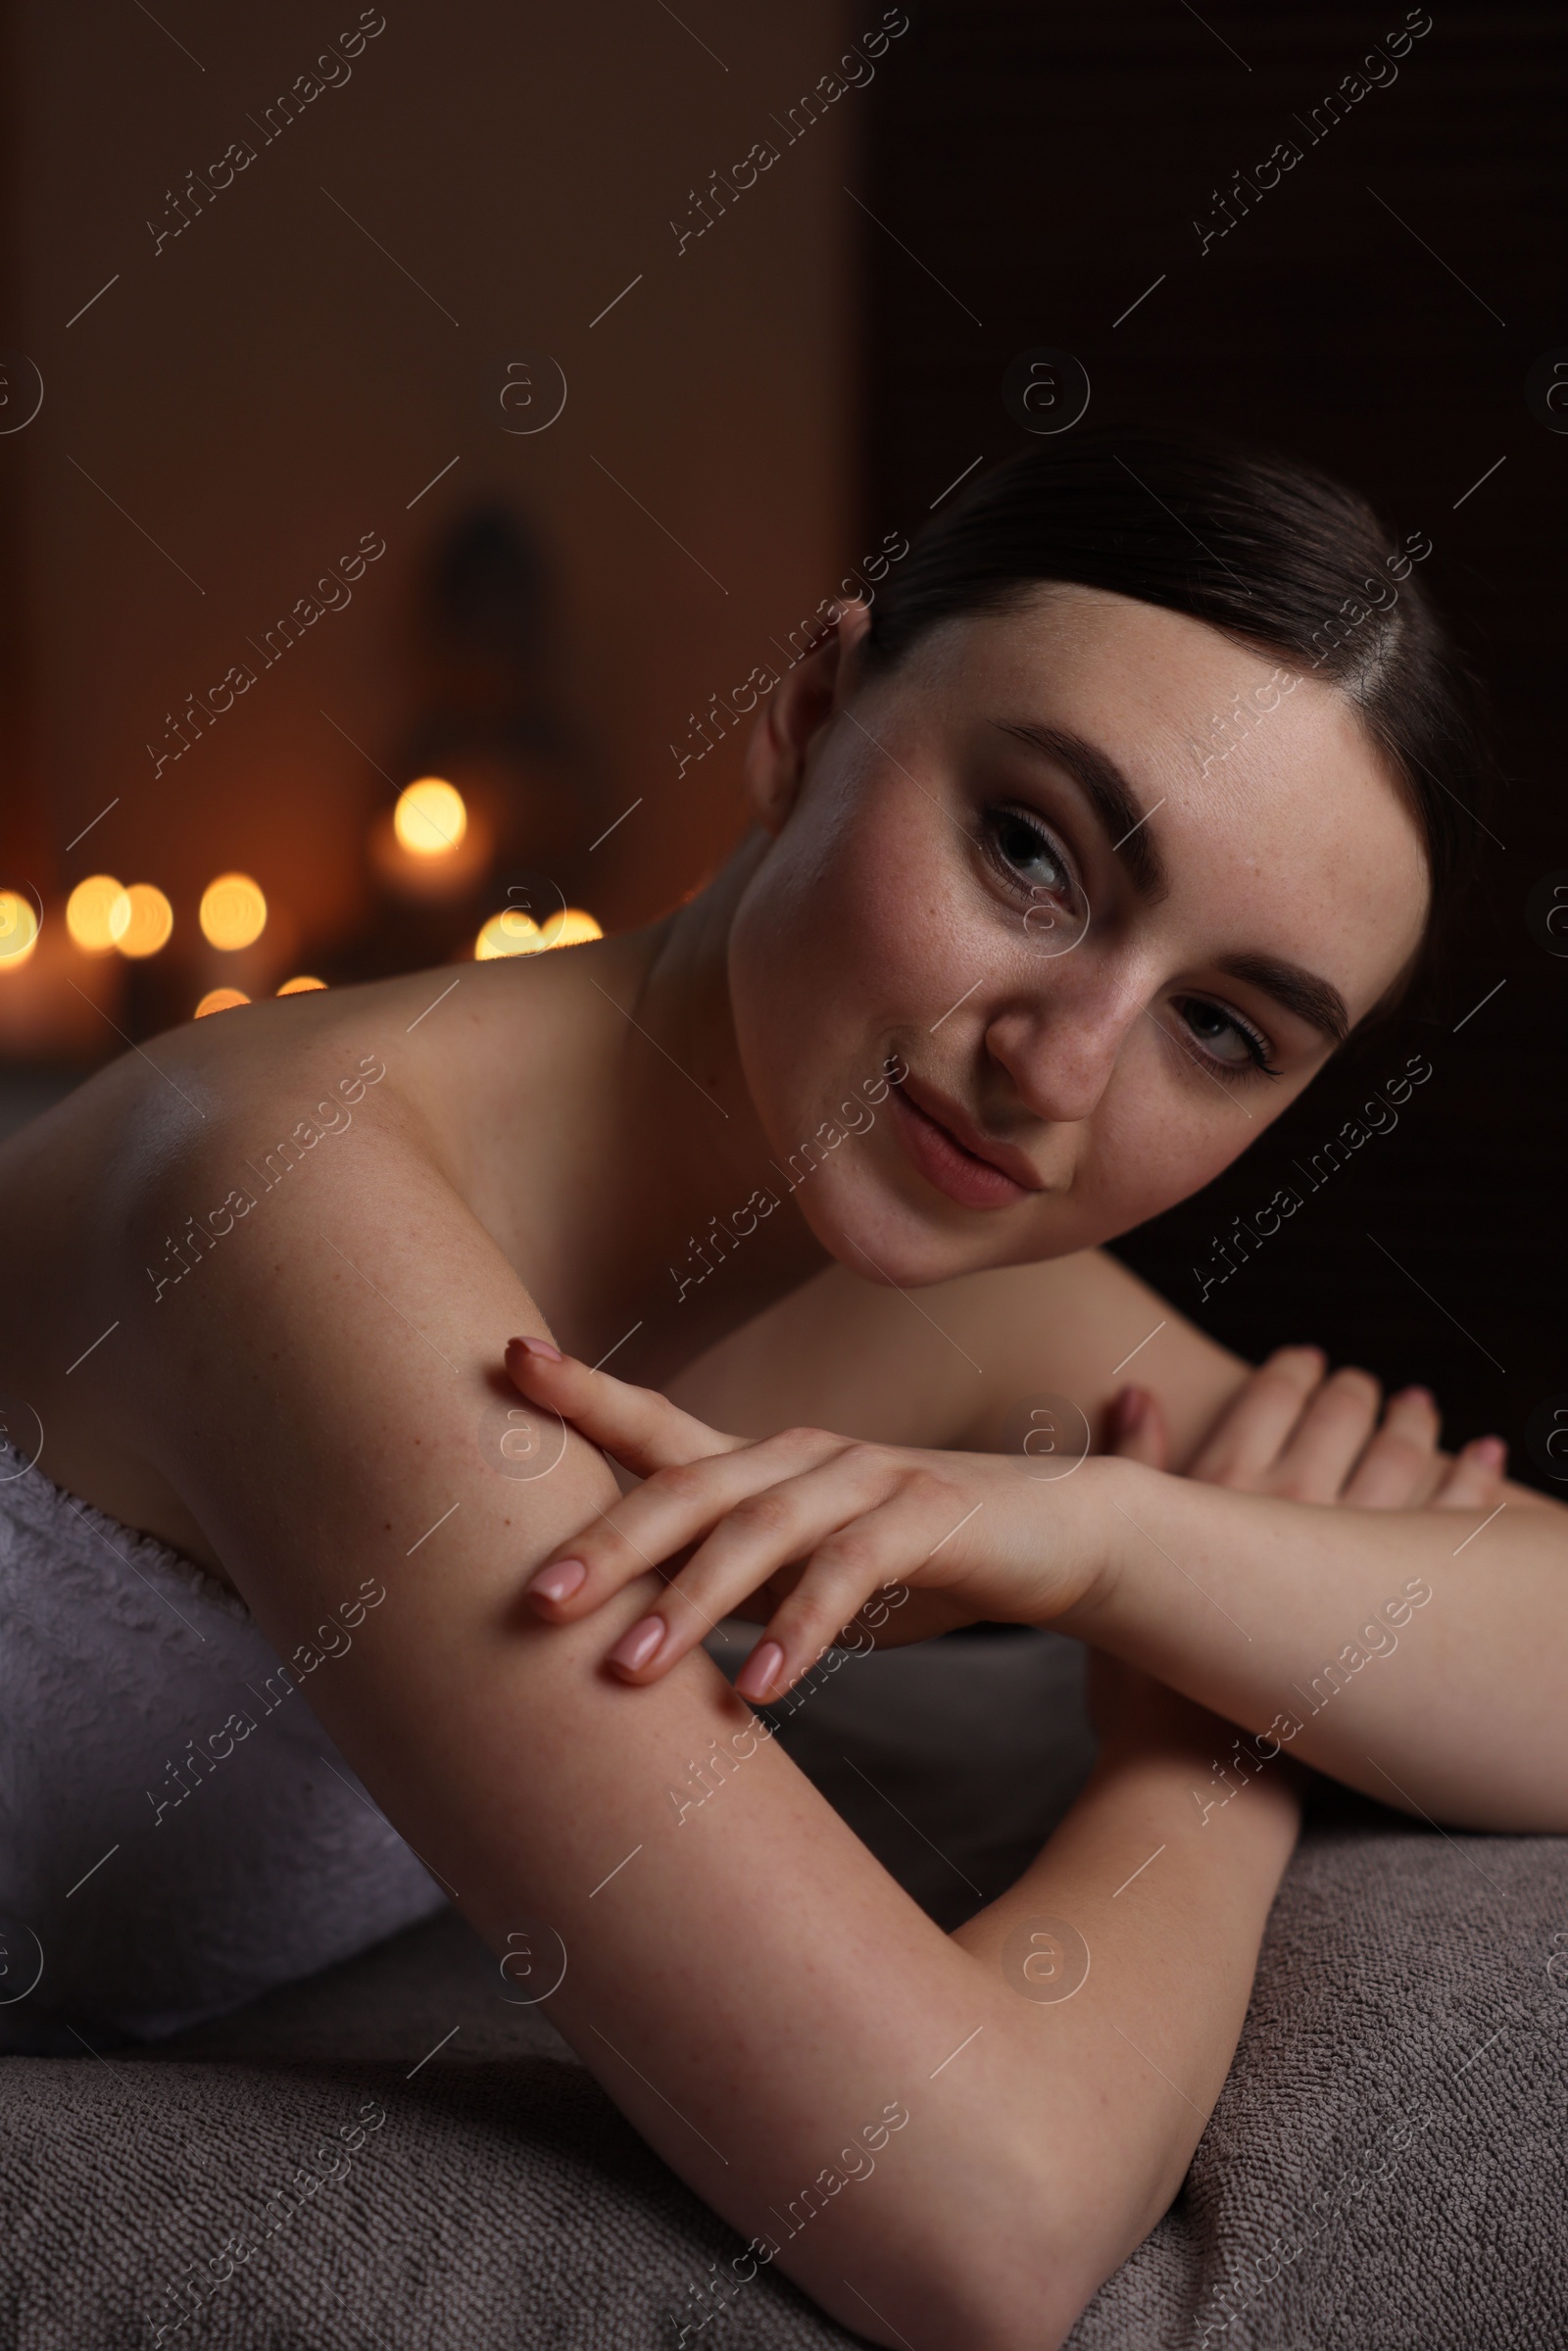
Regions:
<instances>
[{"instance_id":1,"label":"woman's sleek dark brown hair, parted and pulled back","mask_svg":"<svg viewBox=\"0 0 1568 2351\"><path fill-rule=\"evenodd\" d=\"M1208 621L1331 679L1382 750L1432 877L1427 943L1479 846L1490 785L1479 686L1418 564L1352 489L1291 458L1178 433L1074 433L1025 449L931 522L872 604L865 658L896 665L929 628L1016 611L1046 581ZM1368 1016L1371 1018L1371 1016Z\"/></svg>"}]
</instances>

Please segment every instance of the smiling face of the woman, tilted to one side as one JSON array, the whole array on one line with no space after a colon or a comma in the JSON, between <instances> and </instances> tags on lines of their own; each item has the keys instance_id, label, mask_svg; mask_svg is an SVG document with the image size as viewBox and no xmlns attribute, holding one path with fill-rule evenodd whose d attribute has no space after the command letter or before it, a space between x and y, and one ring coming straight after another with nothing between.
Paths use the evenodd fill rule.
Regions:
<instances>
[{"instance_id":1,"label":"smiling face of the woman, tilted to one side","mask_svg":"<svg viewBox=\"0 0 1568 2351\"><path fill-rule=\"evenodd\" d=\"M731 1002L771 1154L818 1239L898 1284L1128 1232L1399 976L1415 820L1333 686L1180 614L1044 588L886 677L865 625L748 755L773 842Z\"/></svg>"}]
</instances>

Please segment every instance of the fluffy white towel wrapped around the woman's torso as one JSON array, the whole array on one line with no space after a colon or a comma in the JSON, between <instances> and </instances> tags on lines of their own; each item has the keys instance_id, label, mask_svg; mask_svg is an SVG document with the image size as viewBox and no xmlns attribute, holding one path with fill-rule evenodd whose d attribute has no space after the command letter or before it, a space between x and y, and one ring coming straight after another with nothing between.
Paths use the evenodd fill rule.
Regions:
<instances>
[{"instance_id":1,"label":"fluffy white towel wrapped around the woman's torso","mask_svg":"<svg viewBox=\"0 0 1568 2351\"><path fill-rule=\"evenodd\" d=\"M367 1606L346 1580L284 1667L233 1592L0 1441L0 2050L167 2034L444 1904L308 1707Z\"/></svg>"}]
</instances>

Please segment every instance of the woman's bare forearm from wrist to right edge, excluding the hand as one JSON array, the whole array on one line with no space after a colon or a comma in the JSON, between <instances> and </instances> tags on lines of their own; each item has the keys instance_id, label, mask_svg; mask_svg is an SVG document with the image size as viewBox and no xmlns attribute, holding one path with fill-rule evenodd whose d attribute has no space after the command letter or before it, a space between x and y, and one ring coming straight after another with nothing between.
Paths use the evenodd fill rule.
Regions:
<instances>
[{"instance_id":1,"label":"woman's bare forearm from wrist to right edge, excluding the hand","mask_svg":"<svg viewBox=\"0 0 1568 2351\"><path fill-rule=\"evenodd\" d=\"M1566 1514L1326 1507L1093 1467L1110 1540L1072 1632L1380 1803L1568 1829Z\"/></svg>"}]
</instances>

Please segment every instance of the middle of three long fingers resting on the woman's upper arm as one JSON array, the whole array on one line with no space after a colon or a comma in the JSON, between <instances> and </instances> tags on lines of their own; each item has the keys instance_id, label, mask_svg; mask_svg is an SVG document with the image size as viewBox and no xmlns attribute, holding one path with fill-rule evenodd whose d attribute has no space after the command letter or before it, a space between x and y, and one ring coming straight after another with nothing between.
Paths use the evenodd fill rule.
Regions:
<instances>
[{"instance_id":1,"label":"middle of three long fingers resting on the woman's upper arm","mask_svg":"<svg viewBox=\"0 0 1568 2351\"><path fill-rule=\"evenodd\" d=\"M656 1606L637 1620L607 1653L607 1665L628 1681L649 1683L668 1674L689 1648L712 1632L712 1627L736 1613L736 1603L762 1589L771 1575L790 1561L820 1556L820 1545L830 1538L844 1540L844 1528L853 1526L856 1538L867 1516L877 1514L889 1493L898 1486L936 1486L936 1479L910 1474L891 1455L872 1446L846 1446L832 1460L792 1479L780 1479L762 1493L750 1495L722 1519L708 1540L691 1554L670 1589ZM926 1538L931 1540L931 1538ZM860 1559L858 1542L851 1556ZM811 1580L813 1589L804 1592ZM780 1608L788 1622L804 1627L830 1615L846 1594L844 1615L837 1615L816 1643L813 1655L844 1629L849 1617L877 1589L879 1578L851 1592L853 1575L823 1578L806 1566ZM778 1610L769 1615L776 1622ZM804 1634L799 1634L804 1639ZM764 1643L766 1646L766 1643ZM799 1646L799 1643L797 1643ZM790 1657L795 1650L790 1650ZM804 1667L802 1667L804 1672ZM759 1693L741 1688L743 1697Z\"/></svg>"}]
</instances>

